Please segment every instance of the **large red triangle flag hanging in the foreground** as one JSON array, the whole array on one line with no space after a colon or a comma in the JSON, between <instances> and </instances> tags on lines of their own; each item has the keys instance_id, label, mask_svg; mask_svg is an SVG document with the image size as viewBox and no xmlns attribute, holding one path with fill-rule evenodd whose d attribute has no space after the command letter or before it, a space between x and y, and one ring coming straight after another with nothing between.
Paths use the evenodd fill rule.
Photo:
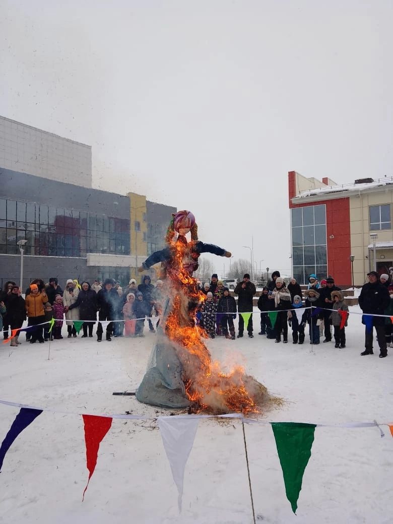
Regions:
<instances>
[{"instance_id":1,"label":"large red triangle flag hanging in the foreground","mask_svg":"<svg viewBox=\"0 0 393 524\"><path fill-rule=\"evenodd\" d=\"M84 440L86 443L86 466L89 470L88 483L84 488L82 497L83 501L84 494L86 489L88 489L91 476L93 475L95 466L97 464L100 443L111 428L112 418L96 417L95 415L82 415L82 418L84 422Z\"/></svg>"}]
</instances>

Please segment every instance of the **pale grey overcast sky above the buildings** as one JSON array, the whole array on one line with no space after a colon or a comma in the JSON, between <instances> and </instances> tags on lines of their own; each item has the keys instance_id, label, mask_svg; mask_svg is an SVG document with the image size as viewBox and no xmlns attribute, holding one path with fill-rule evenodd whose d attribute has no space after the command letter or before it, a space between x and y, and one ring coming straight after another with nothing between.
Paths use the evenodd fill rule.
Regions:
<instances>
[{"instance_id":1,"label":"pale grey overcast sky above the buildings","mask_svg":"<svg viewBox=\"0 0 393 524\"><path fill-rule=\"evenodd\" d=\"M253 235L290 271L288 171L393 174L391 0L0 9L0 114L91 145L94 187L193 211L235 258Z\"/></svg>"}]
</instances>

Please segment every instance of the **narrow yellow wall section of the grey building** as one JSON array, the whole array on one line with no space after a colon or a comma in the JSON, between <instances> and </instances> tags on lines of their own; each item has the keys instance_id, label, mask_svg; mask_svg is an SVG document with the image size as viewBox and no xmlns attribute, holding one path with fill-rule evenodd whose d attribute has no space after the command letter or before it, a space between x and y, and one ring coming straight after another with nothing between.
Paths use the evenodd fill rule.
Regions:
<instances>
[{"instance_id":1,"label":"narrow yellow wall section of the grey building","mask_svg":"<svg viewBox=\"0 0 393 524\"><path fill-rule=\"evenodd\" d=\"M128 193L128 196L130 199L130 252L136 255L137 265L140 266L147 257L147 242L144 241L144 236L147 236L146 196L136 193ZM140 223L140 231L135 231L135 222ZM137 279L136 268L131 268L130 272L132 277Z\"/></svg>"}]
</instances>

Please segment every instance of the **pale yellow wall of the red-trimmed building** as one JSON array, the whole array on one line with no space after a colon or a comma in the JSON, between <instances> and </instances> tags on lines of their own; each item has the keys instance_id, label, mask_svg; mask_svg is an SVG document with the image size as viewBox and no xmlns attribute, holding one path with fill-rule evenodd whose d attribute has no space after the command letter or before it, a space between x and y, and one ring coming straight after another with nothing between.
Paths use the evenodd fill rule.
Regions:
<instances>
[{"instance_id":1,"label":"pale yellow wall of the red-trimmed building","mask_svg":"<svg viewBox=\"0 0 393 524\"><path fill-rule=\"evenodd\" d=\"M366 275L369 271L368 258L368 245L372 244L370 238L370 205L381 205L381 204L393 204L393 191L381 190L373 193L359 192L359 195L350 196L350 220L351 220L351 255L355 256L353 268L354 268L354 284L355 286L362 286L366 281ZM388 242L393 240L393 231L373 231L378 235L376 242ZM376 251L377 262L383 262L384 260L392 260L392 250L390 249L378 249ZM380 258L383 255L385 258ZM390 258L389 258L390 257ZM371 258L371 264L373 269L373 259Z\"/></svg>"}]
</instances>

